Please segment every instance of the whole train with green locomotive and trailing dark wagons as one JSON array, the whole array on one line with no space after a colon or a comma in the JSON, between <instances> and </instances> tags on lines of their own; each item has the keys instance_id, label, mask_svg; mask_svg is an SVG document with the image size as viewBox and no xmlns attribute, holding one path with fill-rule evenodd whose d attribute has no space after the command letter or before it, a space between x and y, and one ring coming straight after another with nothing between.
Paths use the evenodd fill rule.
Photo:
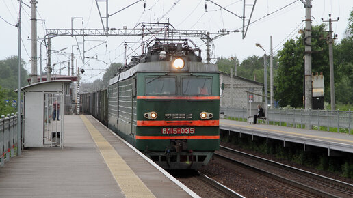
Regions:
<instances>
[{"instance_id":1,"label":"whole train with green locomotive and trailing dark wagons","mask_svg":"<svg viewBox=\"0 0 353 198\"><path fill-rule=\"evenodd\" d=\"M81 94L90 113L165 169L198 169L219 149L220 77L186 39L155 39L109 81ZM151 46L150 46L151 45Z\"/></svg>"}]
</instances>

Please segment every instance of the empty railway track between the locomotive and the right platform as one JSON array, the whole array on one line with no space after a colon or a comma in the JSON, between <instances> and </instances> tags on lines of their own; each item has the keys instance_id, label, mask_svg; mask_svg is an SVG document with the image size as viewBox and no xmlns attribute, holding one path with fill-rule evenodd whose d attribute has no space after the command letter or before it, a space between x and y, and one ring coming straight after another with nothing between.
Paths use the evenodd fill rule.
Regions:
<instances>
[{"instance_id":1,"label":"empty railway track between the locomotive and the right platform","mask_svg":"<svg viewBox=\"0 0 353 198\"><path fill-rule=\"evenodd\" d=\"M352 197L353 185L220 146L215 157L261 175L283 192L299 197Z\"/></svg>"}]
</instances>

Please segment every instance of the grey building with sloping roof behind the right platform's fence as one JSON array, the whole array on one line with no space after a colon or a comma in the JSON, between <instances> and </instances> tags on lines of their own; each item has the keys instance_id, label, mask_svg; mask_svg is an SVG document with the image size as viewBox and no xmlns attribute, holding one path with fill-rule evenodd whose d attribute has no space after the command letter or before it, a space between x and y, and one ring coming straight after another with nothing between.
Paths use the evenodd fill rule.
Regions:
<instances>
[{"instance_id":1,"label":"grey building with sloping roof behind the right platform's fence","mask_svg":"<svg viewBox=\"0 0 353 198\"><path fill-rule=\"evenodd\" d=\"M261 96L263 95L263 83L245 79L240 76L233 76L233 89L231 97L231 76L224 72L220 72L220 83L224 83L224 90L220 93L220 106L221 107L236 107L246 108L248 102L262 102ZM254 94L250 94L248 92Z\"/></svg>"}]
</instances>

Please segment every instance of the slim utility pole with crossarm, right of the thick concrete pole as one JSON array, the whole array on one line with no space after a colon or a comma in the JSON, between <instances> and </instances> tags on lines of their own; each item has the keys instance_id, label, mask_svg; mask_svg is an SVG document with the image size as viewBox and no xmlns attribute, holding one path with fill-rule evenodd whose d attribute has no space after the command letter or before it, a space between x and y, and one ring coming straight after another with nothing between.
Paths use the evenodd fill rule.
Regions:
<instances>
[{"instance_id":1,"label":"slim utility pole with crossarm, right of the thick concrete pole","mask_svg":"<svg viewBox=\"0 0 353 198\"><path fill-rule=\"evenodd\" d=\"M323 22L328 22L328 27L329 27L329 33L328 33L328 57L330 59L330 94L331 94L331 110L334 111L336 110L336 100L335 100L335 75L334 75L334 69L333 69L333 39L332 38L332 22L337 22L337 20L332 20L331 19L331 14L328 14L329 19L324 20L324 18L321 18ZM336 38L336 37L335 37Z\"/></svg>"}]
</instances>

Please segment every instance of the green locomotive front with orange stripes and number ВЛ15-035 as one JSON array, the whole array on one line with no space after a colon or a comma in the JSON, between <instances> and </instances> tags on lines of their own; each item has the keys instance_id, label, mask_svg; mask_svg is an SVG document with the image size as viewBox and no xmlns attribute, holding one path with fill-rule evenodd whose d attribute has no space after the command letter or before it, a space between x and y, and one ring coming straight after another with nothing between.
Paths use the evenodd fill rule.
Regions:
<instances>
[{"instance_id":1,"label":"green locomotive front with orange stripes and number \u0412\u041b15-035","mask_svg":"<svg viewBox=\"0 0 353 198\"><path fill-rule=\"evenodd\" d=\"M170 46L140 63L151 72L137 74L135 147L165 169L197 169L219 149L218 69Z\"/></svg>"}]
</instances>

